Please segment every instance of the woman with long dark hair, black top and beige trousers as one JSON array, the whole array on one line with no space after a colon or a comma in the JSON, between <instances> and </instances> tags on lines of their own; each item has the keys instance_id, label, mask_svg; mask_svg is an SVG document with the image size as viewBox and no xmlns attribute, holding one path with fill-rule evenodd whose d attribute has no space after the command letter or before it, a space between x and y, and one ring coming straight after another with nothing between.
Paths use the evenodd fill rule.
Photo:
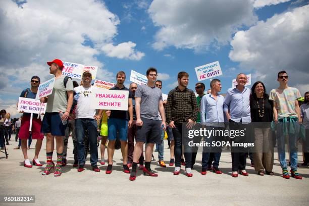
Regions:
<instances>
[{"instance_id":1,"label":"woman with long dark hair, black top and beige trousers","mask_svg":"<svg viewBox=\"0 0 309 206\"><path fill-rule=\"evenodd\" d=\"M273 102L268 99L263 82L257 81L251 87L250 112L254 126L254 169L259 175L274 175L274 146L270 123L273 121Z\"/></svg>"}]
</instances>

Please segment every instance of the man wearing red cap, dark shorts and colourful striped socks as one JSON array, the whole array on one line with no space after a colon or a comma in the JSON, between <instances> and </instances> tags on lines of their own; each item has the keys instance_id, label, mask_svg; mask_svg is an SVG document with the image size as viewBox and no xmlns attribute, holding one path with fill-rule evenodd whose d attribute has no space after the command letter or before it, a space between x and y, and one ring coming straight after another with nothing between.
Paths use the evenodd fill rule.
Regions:
<instances>
[{"instance_id":1,"label":"man wearing red cap, dark shorts and colourful striped socks","mask_svg":"<svg viewBox=\"0 0 309 206\"><path fill-rule=\"evenodd\" d=\"M63 136L67 127L67 119L73 104L73 82L67 79L65 85L65 76L62 75L63 63L61 60L47 62L49 73L55 75L56 80L53 93L48 97L40 98L41 102L47 102L46 113L44 115L41 132L46 133L46 158L47 163L42 175L48 175L50 170L55 167L53 162L54 137L56 138L57 164L54 176L61 175L61 165L63 156ZM61 117L62 115L62 117Z\"/></svg>"}]
</instances>

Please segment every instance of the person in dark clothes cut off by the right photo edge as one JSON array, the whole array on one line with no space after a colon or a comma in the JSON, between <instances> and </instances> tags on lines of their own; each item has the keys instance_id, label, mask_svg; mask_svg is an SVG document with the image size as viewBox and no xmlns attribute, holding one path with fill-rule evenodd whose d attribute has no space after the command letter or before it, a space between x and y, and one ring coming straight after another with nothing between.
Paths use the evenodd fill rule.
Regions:
<instances>
[{"instance_id":1,"label":"person in dark clothes cut off by the right photo edge","mask_svg":"<svg viewBox=\"0 0 309 206\"><path fill-rule=\"evenodd\" d=\"M303 164L301 165L307 166L309 164L309 91L304 94L304 101L300 106L300 117L305 128L305 140L302 143Z\"/></svg>"}]
</instances>

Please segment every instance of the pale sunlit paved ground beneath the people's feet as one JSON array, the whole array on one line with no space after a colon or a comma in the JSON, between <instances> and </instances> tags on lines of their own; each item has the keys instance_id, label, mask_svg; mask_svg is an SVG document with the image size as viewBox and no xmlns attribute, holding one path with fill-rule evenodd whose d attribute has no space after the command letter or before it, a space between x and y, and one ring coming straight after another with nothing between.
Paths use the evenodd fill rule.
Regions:
<instances>
[{"instance_id":1,"label":"pale sunlit paved ground beneath the people's feet","mask_svg":"<svg viewBox=\"0 0 309 206\"><path fill-rule=\"evenodd\" d=\"M15 139L13 137L12 139ZM33 140L28 150L29 159L34 156ZM279 162L274 165L275 176L259 176L249 166L248 177L231 177L230 153L222 153L220 168L222 175L208 172L200 175L201 154L193 177L184 172L173 175L174 167L161 168L158 162L152 169L159 177L148 177L138 171L136 181L129 181L129 175L122 172L121 151L116 150L113 173L105 174L107 165L100 166L101 172L91 170L87 161L86 170L77 172L73 168L73 143L69 140L68 165L60 177L53 174L42 176L44 167L23 167L21 150L14 150L17 142L8 146L9 158L0 153L0 195L35 195L35 203L27 205L308 205L309 168L299 167L302 180L281 177ZM45 141L39 160L45 161ZM165 160L168 163L170 152L165 142ZM154 152L156 159L158 153ZM275 154L275 158L277 154ZM299 153L299 165L302 161ZM56 152L54 152L54 161ZM0 203L0 205L20 205L21 203Z\"/></svg>"}]
</instances>

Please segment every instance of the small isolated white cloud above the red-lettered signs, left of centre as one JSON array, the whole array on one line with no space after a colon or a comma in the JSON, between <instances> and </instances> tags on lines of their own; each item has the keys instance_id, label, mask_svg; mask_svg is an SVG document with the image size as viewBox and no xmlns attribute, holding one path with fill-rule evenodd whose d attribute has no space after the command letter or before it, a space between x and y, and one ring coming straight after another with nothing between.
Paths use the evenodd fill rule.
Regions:
<instances>
[{"instance_id":1,"label":"small isolated white cloud above the red-lettered signs, left of centre","mask_svg":"<svg viewBox=\"0 0 309 206\"><path fill-rule=\"evenodd\" d=\"M114 46L112 43L105 44L101 50L109 57L117 57L119 59L140 60L144 53L134 49L136 43L131 41L120 43Z\"/></svg>"}]
</instances>

